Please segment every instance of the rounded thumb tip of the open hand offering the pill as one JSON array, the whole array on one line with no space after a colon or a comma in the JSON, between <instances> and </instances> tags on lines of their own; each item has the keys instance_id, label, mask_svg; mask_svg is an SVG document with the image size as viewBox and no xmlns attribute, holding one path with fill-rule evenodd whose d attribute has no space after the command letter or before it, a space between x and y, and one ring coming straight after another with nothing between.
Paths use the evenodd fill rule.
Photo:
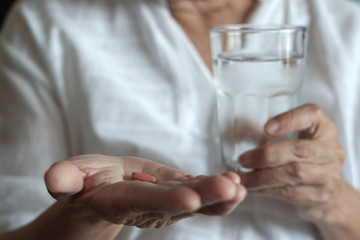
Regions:
<instances>
[{"instance_id":1,"label":"rounded thumb tip of the open hand offering the pill","mask_svg":"<svg viewBox=\"0 0 360 240\"><path fill-rule=\"evenodd\" d=\"M68 202L70 196L80 192L84 186L83 174L70 161L56 162L44 178L50 195L61 202Z\"/></svg>"}]
</instances>

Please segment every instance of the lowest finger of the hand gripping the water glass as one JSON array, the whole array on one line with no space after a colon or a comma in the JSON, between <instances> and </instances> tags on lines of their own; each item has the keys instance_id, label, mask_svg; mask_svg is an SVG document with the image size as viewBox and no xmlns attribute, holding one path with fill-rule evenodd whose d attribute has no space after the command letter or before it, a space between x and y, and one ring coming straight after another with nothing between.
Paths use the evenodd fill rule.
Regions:
<instances>
[{"instance_id":1,"label":"lowest finger of the hand gripping the water glass","mask_svg":"<svg viewBox=\"0 0 360 240\"><path fill-rule=\"evenodd\" d=\"M273 196L299 206L314 206L329 200L331 193L321 186L297 185L258 190L257 193Z\"/></svg>"}]
</instances>

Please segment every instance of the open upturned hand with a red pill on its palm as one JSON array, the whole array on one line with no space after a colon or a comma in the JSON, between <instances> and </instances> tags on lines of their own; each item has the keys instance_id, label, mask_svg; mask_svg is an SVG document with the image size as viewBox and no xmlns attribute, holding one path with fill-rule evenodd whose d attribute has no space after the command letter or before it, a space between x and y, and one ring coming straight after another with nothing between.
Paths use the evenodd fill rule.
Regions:
<instances>
[{"instance_id":1,"label":"open upturned hand with a red pill on its palm","mask_svg":"<svg viewBox=\"0 0 360 240\"><path fill-rule=\"evenodd\" d=\"M133 172L153 175L157 183L131 180ZM74 157L55 163L45 182L49 193L66 205L140 228L160 228L197 213L227 214L246 195L235 173L193 177L135 157Z\"/></svg>"}]
</instances>

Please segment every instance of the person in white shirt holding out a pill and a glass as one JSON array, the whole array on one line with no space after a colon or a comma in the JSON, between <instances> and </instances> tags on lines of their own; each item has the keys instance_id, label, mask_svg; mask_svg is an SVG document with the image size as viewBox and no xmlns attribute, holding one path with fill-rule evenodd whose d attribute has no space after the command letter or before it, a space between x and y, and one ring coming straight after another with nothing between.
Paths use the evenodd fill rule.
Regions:
<instances>
[{"instance_id":1,"label":"person in white shirt holding out a pill and a glass","mask_svg":"<svg viewBox=\"0 0 360 240\"><path fill-rule=\"evenodd\" d=\"M308 27L312 104L264 126L307 138L216 175L209 29L245 22ZM359 23L345 0L17 2L0 43L0 239L360 239Z\"/></svg>"}]
</instances>

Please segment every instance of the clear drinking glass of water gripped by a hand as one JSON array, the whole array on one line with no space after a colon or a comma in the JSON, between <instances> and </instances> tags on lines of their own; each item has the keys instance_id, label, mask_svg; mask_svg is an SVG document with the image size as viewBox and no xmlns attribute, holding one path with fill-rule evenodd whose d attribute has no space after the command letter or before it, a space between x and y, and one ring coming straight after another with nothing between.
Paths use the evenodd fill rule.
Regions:
<instances>
[{"instance_id":1,"label":"clear drinking glass of water gripped by a hand","mask_svg":"<svg viewBox=\"0 0 360 240\"><path fill-rule=\"evenodd\" d=\"M247 171L238 162L242 153L295 137L271 139L263 128L298 104L306 28L226 25L210 37L222 159L230 170Z\"/></svg>"}]
</instances>

